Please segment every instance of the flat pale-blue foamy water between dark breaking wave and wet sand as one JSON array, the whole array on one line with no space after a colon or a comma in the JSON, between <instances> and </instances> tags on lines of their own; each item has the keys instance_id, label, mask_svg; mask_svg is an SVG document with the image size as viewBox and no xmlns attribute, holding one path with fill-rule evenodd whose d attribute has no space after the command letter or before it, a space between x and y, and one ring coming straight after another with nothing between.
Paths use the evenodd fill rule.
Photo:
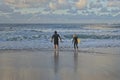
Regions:
<instances>
[{"instance_id":1,"label":"flat pale-blue foamy water between dark breaking wave and wet sand","mask_svg":"<svg viewBox=\"0 0 120 80\"><path fill-rule=\"evenodd\" d=\"M61 48L73 48L71 40L60 42ZM119 40L81 40L79 47L120 47ZM0 42L0 49L42 49L53 48L53 43L45 40Z\"/></svg>"}]
</instances>

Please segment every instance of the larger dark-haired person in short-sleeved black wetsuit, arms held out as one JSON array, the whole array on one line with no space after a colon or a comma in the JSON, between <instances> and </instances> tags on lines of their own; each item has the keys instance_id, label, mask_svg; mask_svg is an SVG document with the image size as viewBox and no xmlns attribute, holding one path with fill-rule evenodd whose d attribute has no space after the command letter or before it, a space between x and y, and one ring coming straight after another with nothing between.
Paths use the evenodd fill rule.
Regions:
<instances>
[{"instance_id":1,"label":"larger dark-haired person in short-sleeved black wetsuit, arms held out","mask_svg":"<svg viewBox=\"0 0 120 80\"><path fill-rule=\"evenodd\" d=\"M57 31L55 31L54 34L52 35L52 39L51 39L51 42L54 41L54 49L55 50L58 50L58 48L59 48L59 39L60 39L60 41L62 41L60 35L57 34Z\"/></svg>"}]
</instances>

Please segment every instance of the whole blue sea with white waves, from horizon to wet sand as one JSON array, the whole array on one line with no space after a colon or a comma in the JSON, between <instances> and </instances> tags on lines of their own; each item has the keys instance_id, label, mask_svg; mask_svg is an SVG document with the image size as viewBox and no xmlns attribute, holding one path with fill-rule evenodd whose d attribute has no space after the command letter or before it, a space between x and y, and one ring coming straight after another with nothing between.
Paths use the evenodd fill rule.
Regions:
<instances>
[{"instance_id":1,"label":"whole blue sea with white waves, from horizon to wet sand","mask_svg":"<svg viewBox=\"0 0 120 80\"><path fill-rule=\"evenodd\" d=\"M0 24L0 49L53 49L55 30L61 49L73 48L73 34L79 48L120 47L120 24Z\"/></svg>"}]
</instances>

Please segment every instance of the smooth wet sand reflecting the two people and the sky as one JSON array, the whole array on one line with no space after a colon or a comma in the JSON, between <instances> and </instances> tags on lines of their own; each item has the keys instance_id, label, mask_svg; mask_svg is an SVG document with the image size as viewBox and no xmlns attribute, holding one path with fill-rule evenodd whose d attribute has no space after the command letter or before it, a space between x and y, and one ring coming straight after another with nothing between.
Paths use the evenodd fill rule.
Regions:
<instances>
[{"instance_id":1,"label":"smooth wet sand reflecting the two people and the sky","mask_svg":"<svg viewBox=\"0 0 120 80\"><path fill-rule=\"evenodd\" d=\"M0 80L120 80L120 48L0 50Z\"/></svg>"}]
</instances>

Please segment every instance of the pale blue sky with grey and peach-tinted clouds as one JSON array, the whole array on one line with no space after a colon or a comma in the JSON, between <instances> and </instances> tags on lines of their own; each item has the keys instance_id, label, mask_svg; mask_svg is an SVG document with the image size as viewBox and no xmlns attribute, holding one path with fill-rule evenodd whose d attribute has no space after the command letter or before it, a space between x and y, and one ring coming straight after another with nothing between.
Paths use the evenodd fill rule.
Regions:
<instances>
[{"instance_id":1,"label":"pale blue sky with grey and peach-tinted clouds","mask_svg":"<svg viewBox=\"0 0 120 80\"><path fill-rule=\"evenodd\" d=\"M120 23L120 0L0 0L0 23Z\"/></svg>"}]
</instances>

